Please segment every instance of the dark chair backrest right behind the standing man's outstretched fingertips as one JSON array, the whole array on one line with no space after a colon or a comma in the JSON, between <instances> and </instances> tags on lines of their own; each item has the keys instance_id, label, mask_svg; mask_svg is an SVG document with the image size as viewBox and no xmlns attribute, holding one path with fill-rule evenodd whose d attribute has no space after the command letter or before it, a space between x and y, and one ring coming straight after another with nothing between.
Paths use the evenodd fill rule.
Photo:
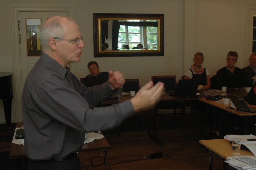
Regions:
<instances>
[{"instance_id":1,"label":"dark chair backrest right behind the standing man's outstretched fingertips","mask_svg":"<svg viewBox=\"0 0 256 170\"><path fill-rule=\"evenodd\" d=\"M151 79L154 85L158 82L164 83L166 91L175 90L177 86L176 76L151 76Z\"/></svg>"}]
</instances>

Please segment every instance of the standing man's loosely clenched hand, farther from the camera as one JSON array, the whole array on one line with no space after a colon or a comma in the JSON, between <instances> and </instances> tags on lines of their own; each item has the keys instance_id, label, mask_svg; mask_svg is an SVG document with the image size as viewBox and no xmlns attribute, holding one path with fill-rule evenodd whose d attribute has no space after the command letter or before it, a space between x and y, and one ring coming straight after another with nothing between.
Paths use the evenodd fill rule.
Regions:
<instances>
[{"instance_id":1,"label":"standing man's loosely clenched hand, farther from the camera","mask_svg":"<svg viewBox=\"0 0 256 170\"><path fill-rule=\"evenodd\" d=\"M124 85L124 77L123 74L120 73L119 71L116 71L113 73L113 71L109 71L109 75L108 75L108 82L109 82L109 86L112 90L115 90L117 88L120 88Z\"/></svg>"}]
</instances>

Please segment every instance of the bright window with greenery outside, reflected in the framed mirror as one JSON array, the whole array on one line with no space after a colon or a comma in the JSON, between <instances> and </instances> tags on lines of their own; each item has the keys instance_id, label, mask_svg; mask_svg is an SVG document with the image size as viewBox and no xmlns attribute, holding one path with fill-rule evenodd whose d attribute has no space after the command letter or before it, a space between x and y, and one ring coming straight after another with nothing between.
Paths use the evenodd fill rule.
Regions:
<instances>
[{"instance_id":1,"label":"bright window with greenery outside, reflected in the framed mirror","mask_svg":"<svg viewBox=\"0 0 256 170\"><path fill-rule=\"evenodd\" d=\"M140 20L127 20L127 22L139 22ZM142 31L140 26L125 26L120 25L118 47L122 49L123 45L128 45L130 49L137 47L138 44L143 44L143 48L153 49L157 47L157 30L158 27L147 26L146 31ZM144 37L146 37L146 42ZM144 39L144 43L143 42Z\"/></svg>"}]
</instances>

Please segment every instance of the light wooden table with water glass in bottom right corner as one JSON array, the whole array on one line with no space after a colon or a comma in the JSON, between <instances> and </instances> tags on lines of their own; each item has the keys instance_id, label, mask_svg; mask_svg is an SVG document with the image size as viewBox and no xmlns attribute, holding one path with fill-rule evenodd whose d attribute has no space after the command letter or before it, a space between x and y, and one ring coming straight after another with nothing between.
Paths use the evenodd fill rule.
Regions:
<instances>
[{"instance_id":1,"label":"light wooden table with water glass in bottom right corner","mask_svg":"<svg viewBox=\"0 0 256 170\"><path fill-rule=\"evenodd\" d=\"M199 141L200 144L207 147L209 149L209 170L213 168L213 154L215 152L217 155L222 157L222 170L226 169L225 160L227 157L233 156L232 155L232 145L230 141L227 139L212 139L212 140L201 140ZM254 156L252 152L241 150L240 156Z\"/></svg>"}]
</instances>

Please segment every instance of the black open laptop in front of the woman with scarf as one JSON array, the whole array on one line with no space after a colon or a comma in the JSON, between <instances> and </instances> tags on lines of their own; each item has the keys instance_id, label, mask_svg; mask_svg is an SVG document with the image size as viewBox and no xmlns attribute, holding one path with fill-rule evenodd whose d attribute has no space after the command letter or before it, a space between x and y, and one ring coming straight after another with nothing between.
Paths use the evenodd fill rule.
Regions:
<instances>
[{"instance_id":1,"label":"black open laptop in front of the woman with scarf","mask_svg":"<svg viewBox=\"0 0 256 170\"><path fill-rule=\"evenodd\" d=\"M179 80L173 96L197 97L197 87L200 85L201 79L184 79ZM170 96L172 94L170 93Z\"/></svg>"}]
</instances>

